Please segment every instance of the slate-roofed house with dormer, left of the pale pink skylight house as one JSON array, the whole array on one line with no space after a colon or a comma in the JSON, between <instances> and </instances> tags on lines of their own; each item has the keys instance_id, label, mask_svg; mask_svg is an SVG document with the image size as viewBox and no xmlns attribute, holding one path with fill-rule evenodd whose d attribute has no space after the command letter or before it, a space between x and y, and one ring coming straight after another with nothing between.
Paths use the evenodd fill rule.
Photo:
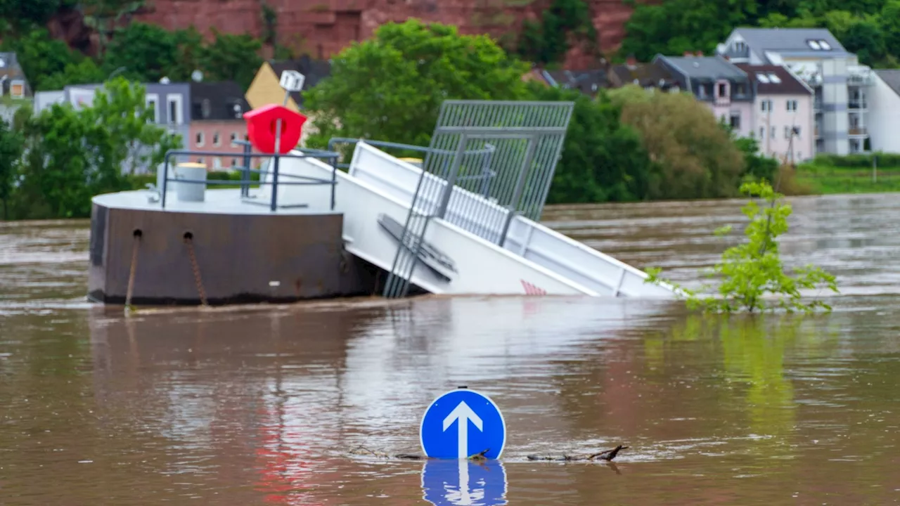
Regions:
<instances>
[{"instance_id":1,"label":"slate-roofed house with dormer, left of the pale pink skylight house","mask_svg":"<svg viewBox=\"0 0 900 506\"><path fill-rule=\"evenodd\" d=\"M752 134L755 87L746 72L721 56L671 57L656 55L653 65L671 72L681 89L707 104L717 120L731 125L735 134Z\"/></svg>"}]
</instances>

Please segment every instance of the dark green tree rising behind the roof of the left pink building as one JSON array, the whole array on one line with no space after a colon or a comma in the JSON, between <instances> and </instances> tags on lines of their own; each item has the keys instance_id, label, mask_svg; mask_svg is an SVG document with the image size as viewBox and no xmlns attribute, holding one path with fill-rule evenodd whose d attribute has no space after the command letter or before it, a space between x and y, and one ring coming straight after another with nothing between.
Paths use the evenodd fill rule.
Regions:
<instances>
[{"instance_id":1,"label":"dark green tree rising behind the roof of the left pink building","mask_svg":"<svg viewBox=\"0 0 900 506\"><path fill-rule=\"evenodd\" d=\"M212 29L215 40L201 50L200 61L210 80L237 81L244 89L256 77L263 59L262 43L248 34L232 35Z\"/></svg>"}]
</instances>

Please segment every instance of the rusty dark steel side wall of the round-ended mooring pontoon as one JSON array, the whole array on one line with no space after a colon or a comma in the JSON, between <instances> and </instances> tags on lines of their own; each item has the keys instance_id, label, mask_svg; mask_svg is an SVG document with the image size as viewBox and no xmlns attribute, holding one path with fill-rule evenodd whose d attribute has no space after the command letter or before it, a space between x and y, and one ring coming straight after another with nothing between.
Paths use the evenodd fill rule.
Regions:
<instances>
[{"instance_id":1,"label":"rusty dark steel side wall of the round-ended mooring pontoon","mask_svg":"<svg viewBox=\"0 0 900 506\"><path fill-rule=\"evenodd\" d=\"M373 275L343 248L340 214L105 212L103 262L91 266L88 281L90 296L103 303L125 300L135 230L134 304L200 303L185 233L211 304L372 293Z\"/></svg>"}]
</instances>

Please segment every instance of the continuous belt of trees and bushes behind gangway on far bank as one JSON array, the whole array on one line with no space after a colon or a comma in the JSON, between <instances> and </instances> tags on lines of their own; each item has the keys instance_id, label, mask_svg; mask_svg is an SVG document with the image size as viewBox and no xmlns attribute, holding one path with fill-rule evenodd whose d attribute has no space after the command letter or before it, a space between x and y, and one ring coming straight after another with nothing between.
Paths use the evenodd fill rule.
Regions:
<instances>
[{"instance_id":1,"label":"continuous belt of trees and bushes behind gangway on far bank","mask_svg":"<svg viewBox=\"0 0 900 506\"><path fill-rule=\"evenodd\" d=\"M308 145L339 136L427 146L446 98L571 100L548 203L732 197L744 179L778 170L692 96L626 86L592 99L525 82L527 69L486 36L418 20L384 24L338 54L306 94L319 132Z\"/></svg>"}]
</instances>

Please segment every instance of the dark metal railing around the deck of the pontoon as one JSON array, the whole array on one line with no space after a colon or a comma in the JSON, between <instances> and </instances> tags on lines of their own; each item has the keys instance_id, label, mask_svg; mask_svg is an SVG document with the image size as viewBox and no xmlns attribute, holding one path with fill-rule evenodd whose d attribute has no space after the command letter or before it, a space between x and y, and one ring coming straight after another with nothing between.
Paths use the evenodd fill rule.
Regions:
<instances>
[{"instance_id":1,"label":"dark metal railing around the deck of the pontoon","mask_svg":"<svg viewBox=\"0 0 900 506\"><path fill-rule=\"evenodd\" d=\"M336 164L338 161L339 154L337 152L325 151L325 150L321 150L321 149L295 149L294 151L300 151L300 153L296 154L294 151L292 151L292 152L289 152L284 155L273 155L271 153L253 153L253 152L251 152L249 149L247 149L247 145L249 145L249 143L244 140L235 140L233 142L235 144L241 144L241 145L245 146L242 156L244 157L244 159L246 161L245 161L245 166L241 167L243 176L240 180L242 197L247 196L247 194L245 194L245 191L244 191L245 186L247 188L249 188L249 185L251 185L251 184L272 185L273 198L272 198L272 202L270 203L269 207L270 207L271 211L275 212L275 210L278 208L277 201L275 199L275 194L277 194L277 192L278 192L278 185L331 185L330 210L334 211L334 209L335 209L335 186L338 185L337 174L336 174L338 167L336 166ZM209 179L182 179L182 178L177 178L177 177L169 177L169 174L168 174L169 159L174 156L179 156L179 155L212 157L212 156L221 155L221 152L220 151L193 151L190 149L170 149L170 150L166 151L166 158L165 158L164 164L163 164L162 188L160 188L160 192L159 192L160 193L160 195L159 195L160 196L160 204L161 204L162 209L166 209L166 193L167 193L166 189L168 186L168 181L170 179L173 181L177 181L179 183L187 183L187 184L193 184L193 185L233 185L234 184L231 181L220 181L220 180L215 180L215 179L212 179L212 180L209 180ZM293 177L295 179L301 179L301 181L279 182L278 181L279 175L278 175L277 171L275 171L273 173L272 181L266 182L266 181L263 181L262 175L264 173L267 174L268 171L263 171L263 170L249 167L249 165L250 165L249 161L248 161L249 158L275 158L275 157L277 157L277 158L327 158L327 159L330 159L331 163L329 165L331 166L331 178L324 179L324 178L320 178L320 177L298 176L298 175L294 175L294 174L283 174L281 176ZM250 174L259 174L260 175L259 181L252 181L249 177Z\"/></svg>"}]
</instances>

